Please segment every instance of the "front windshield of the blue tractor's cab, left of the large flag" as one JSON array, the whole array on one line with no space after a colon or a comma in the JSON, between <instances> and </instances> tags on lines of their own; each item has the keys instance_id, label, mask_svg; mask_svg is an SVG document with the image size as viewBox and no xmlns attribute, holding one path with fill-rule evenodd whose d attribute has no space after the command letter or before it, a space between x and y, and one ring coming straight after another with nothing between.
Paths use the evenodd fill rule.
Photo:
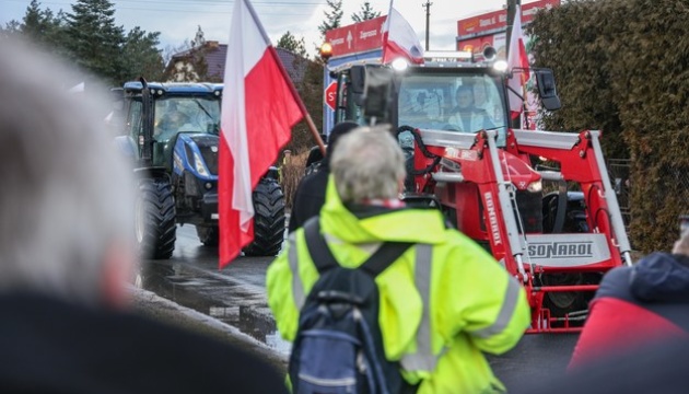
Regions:
<instances>
[{"instance_id":1,"label":"front windshield of the blue tractor's cab, left of the large flag","mask_svg":"<svg viewBox=\"0 0 689 394\"><path fill-rule=\"evenodd\" d=\"M153 138L167 142L179 132L219 132L220 101L214 97L171 96L155 102Z\"/></svg>"}]
</instances>

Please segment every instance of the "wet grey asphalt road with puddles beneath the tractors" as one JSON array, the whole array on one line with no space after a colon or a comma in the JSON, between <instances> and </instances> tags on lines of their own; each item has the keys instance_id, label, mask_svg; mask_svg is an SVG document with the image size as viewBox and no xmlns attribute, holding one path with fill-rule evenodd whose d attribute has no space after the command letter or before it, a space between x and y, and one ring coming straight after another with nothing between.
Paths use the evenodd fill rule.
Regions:
<instances>
[{"instance_id":1,"label":"wet grey asphalt road with puddles beneath the tractors","mask_svg":"<svg viewBox=\"0 0 689 394\"><path fill-rule=\"evenodd\" d=\"M177 229L177 244L170 260L144 262L143 288L208 316L203 324L234 327L238 335L258 344L254 348L262 357L284 368L290 345L277 333L266 303L265 275L271 260L238 257L220 270L218 248L201 245L194 227L185 225ZM526 335L513 350L489 360L507 389L533 386L564 370L576 337Z\"/></svg>"}]
</instances>

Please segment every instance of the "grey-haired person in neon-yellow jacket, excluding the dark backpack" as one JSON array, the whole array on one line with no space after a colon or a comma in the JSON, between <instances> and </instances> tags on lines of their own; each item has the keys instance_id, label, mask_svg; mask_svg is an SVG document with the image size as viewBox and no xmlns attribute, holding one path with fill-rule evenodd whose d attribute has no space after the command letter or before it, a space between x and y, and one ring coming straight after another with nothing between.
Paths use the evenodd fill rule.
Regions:
<instances>
[{"instance_id":1,"label":"grey-haired person in neon-yellow jacket, excluding the dark backpack","mask_svg":"<svg viewBox=\"0 0 689 394\"><path fill-rule=\"evenodd\" d=\"M358 267L385 241L414 243L375 278L387 359L400 362L420 394L504 392L483 352L503 354L523 336L530 323L524 288L477 243L447 228L439 210L404 207L404 154L387 128L351 131L330 164L320 231L342 266ZM299 229L266 278L284 339L294 339L317 278Z\"/></svg>"}]
</instances>

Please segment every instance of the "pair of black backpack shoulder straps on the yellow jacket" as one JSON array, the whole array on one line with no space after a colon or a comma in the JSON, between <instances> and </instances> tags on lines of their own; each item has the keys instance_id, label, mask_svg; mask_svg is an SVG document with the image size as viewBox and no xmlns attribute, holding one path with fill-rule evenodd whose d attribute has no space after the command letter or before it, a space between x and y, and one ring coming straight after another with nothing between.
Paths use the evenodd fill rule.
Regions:
<instances>
[{"instance_id":1,"label":"pair of black backpack shoulder straps on the yellow jacket","mask_svg":"<svg viewBox=\"0 0 689 394\"><path fill-rule=\"evenodd\" d=\"M320 221L317 216L306 221L304 233L308 253L318 273L339 266L328 243L320 234ZM384 242L359 268L375 277L397 260L411 245L413 245L411 242Z\"/></svg>"}]
</instances>

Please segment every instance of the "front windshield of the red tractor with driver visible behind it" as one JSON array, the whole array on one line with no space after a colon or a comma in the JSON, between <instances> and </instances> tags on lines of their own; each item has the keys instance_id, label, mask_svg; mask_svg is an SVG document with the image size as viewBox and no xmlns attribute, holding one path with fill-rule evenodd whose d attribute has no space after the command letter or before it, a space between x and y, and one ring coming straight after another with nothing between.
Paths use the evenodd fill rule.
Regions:
<instances>
[{"instance_id":1,"label":"front windshield of the red tractor with driver visible behind it","mask_svg":"<svg viewBox=\"0 0 689 394\"><path fill-rule=\"evenodd\" d=\"M398 126L477 132L498 129L504 144L507 125L498 78L483 73L420 72L401 78Z\"/></svg>"}]
</instances>

